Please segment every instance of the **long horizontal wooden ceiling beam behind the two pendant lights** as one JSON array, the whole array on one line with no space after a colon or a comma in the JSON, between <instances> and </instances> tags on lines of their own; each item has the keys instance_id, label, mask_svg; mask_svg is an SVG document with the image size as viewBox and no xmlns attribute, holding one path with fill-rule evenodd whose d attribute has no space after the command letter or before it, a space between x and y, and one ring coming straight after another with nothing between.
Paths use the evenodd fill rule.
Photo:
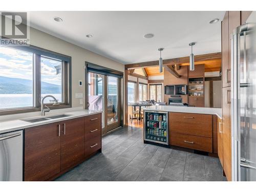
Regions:
<instances>
[{"instance_id":1,"label":"long horizontal wooden ceiling beam behind the two pendant lights","mask_svg":"<svg viewBox=\"0 0 256 192\"><path fill-rule=\"evenodd\" d=\"M214 60L214 59L221 59L221 52L195 55L195 62L205 61L205 60ZM175 64L178 65L181 63L189 63L189 56L163 60L163 65L175 65ZM124 68L133 69L133 68L139 68L139 67L150 67L150 66L158 66L158 65L159 65L159 61L155 60L155 61L148 61L148 62L126 64L124 65Z\"/></svg>"}]
</instances>

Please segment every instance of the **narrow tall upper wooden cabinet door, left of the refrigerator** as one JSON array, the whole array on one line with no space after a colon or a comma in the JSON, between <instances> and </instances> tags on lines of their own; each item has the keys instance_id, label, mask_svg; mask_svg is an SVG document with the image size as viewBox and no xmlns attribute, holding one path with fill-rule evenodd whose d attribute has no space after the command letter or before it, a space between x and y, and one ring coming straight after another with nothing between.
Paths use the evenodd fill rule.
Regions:
<instances>
[{"instance_id":1,"label":"narrow tall upper wooden cabinet door, left of the refrigerator","mask_svg":"<svg viewBox=\"0 0 256 192\"><path fill-rule=\"evenodd\" d=\"M229 63L229 32L228 32L228 11L221 23L221 60L222 60L222 87L230 86L230 63Z\"/></svg>"}]
</instances>

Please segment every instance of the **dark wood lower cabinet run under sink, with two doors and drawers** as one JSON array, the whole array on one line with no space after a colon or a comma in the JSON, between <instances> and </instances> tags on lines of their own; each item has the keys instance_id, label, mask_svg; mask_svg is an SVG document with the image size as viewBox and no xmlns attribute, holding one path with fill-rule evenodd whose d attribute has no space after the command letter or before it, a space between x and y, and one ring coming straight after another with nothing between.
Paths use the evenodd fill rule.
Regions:
<instances>
[{"instance_id":1,"label":"dark wood lower cabinet run under sink, with two doors and drawers","mask_svg":"<svg viewBox=\"0 0 256 192\"><path fill-rule=\"evenodd\" d=\"M90 116L25 129L24 180L53 180L100 151L98 117L99 122L88 126L87 139L86 120L95 119Z\"/></svg>"}]
</instances>

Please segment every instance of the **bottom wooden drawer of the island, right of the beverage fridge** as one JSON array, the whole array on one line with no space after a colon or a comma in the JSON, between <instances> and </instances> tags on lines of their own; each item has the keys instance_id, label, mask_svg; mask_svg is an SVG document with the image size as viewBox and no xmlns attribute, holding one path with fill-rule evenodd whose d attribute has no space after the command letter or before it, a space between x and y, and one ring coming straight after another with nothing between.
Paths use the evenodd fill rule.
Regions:
<instances>
[{"instance_id":1,"label":"bottom wooden drawer of the island, right of the beverage fridge","mask_svg":"<svg viewBox=\"0 0 256 192\"><path fill-rule=\"evenodd\" d=\"M170 144L212 153L212 138L170 133Z\"/></svg>"}]
</instances>

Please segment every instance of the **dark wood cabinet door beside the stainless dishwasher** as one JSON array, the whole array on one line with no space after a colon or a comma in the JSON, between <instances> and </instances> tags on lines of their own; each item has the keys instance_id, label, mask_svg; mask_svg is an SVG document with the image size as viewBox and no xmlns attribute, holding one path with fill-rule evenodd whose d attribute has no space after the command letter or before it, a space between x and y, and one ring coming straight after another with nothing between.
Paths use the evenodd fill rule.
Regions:
<instances>
[{"instance_id":1,"label":"dark wood cabinet door beside the stainless dishwasher","mask_svg":"<svg viewBox=\"0 0 256 192\"><path fill-rule=\"evenodd\" d=\"M25 129L25 181L45 181L60 172L60 132L60 123Z\"/></svg>"}]
</instances>

